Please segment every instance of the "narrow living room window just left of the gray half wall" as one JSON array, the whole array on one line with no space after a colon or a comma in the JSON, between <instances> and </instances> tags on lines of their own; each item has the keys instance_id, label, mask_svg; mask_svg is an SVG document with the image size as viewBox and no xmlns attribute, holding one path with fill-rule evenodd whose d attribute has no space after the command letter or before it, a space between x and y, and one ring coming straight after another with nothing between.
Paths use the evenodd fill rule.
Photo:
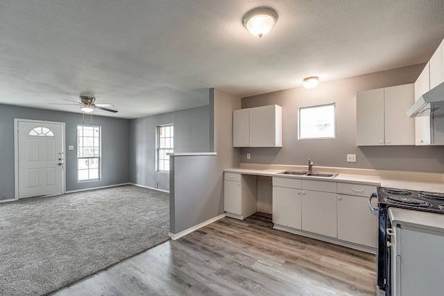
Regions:
<instances>
[{"instance_id":1,"label":"narrow living room window just left of the gray half wall","mask_svg":"<svg viewBox=\"0 0 444 296\"><path fill-rule=\"evenodd\" d=\"M157 171L169 172L169 155L174 152L174 127L157 126Z\"/></svg>"}]
</instances>

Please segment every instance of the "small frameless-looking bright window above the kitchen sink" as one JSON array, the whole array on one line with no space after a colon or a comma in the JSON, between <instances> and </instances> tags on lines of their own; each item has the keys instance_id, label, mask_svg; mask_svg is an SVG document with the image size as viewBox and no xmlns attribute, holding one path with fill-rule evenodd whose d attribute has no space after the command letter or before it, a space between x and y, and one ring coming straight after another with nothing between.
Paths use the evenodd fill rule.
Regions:
<instances>
[{"instance_id":1,"label":"small frameless-looking bright window above the kitchen sink","mask_svg":"<svg viewBox=\"0 0 444 296\"><path fill-rule=\"evenodd\" d=\"M299 108L298 139L334 139L335 104Z\"/></svg>"}]
</instances>

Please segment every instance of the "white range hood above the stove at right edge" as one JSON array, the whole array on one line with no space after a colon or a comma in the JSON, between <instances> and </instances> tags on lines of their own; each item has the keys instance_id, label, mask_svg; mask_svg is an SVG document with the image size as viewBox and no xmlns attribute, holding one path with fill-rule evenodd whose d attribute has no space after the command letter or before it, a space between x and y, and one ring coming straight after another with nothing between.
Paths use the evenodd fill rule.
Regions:
<instances>
[{"instance_id":1,"label":"white range hood above the stove at right edge","mask_svg":"<svg viewBox=\"0 0 444 296\"><path fill-rule=\"evenodd\" d=\"M407 116L444 116L444 83L418 98L407 111Z\"/></svg>"}]
</instances>

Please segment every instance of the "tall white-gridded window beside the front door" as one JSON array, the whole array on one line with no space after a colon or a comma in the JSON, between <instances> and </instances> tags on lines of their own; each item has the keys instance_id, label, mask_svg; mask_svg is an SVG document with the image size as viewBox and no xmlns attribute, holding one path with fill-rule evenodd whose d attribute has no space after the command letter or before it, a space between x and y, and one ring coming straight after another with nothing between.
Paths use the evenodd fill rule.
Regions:
<instances>
[{"instance_id":1,"label":"tall white-gridded window beside the front door","mask_svg":"<svg viewBox=\"0 0 444 296\"><path fill-rule=\"evenodd\" d=\"M101 127L77 125L77 180L100 180Z\"/></svg>"}]
</instances>

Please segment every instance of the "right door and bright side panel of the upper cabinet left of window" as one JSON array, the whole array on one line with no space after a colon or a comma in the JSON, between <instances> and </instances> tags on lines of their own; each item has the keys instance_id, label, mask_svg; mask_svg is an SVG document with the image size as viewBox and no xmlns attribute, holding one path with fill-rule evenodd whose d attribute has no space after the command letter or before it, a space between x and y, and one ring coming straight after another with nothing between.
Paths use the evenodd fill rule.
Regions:
<instances>
[{"instance_id":1,"label":"right door and bright side panel of the upper cabinet left of window","mask_svg":"<svg viewBox=\"0 0 444 296\"><path fill-rule=\"evenodd\" d=\"M250 146L282 146L282 108L277 105L250 108Z\"/></svg>"}]
</instances>

